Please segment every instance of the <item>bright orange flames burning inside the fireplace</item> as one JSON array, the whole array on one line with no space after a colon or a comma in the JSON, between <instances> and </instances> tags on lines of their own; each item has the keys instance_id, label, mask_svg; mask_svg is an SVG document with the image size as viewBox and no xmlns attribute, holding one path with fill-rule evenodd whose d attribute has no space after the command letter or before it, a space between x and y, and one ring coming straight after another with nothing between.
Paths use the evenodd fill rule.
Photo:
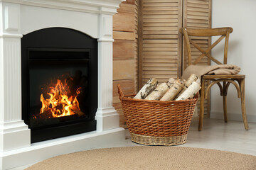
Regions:
<instances>
[{"instance_id":1,"label":"bright orange flames burning inside the fireplace","mask_svg":"<svg viewBox=\"0 0 256 170\"><path fill-rule=\"evenodd\" d=\"M70 90L65 79L64 85L59 79L55 87L50 87L50 92L47 93L50 98L44 98L41 94L42 108L40 114L50 113L53 115L53 118L63 117L67 115L78 114L83 115L79 108L79 102L77 99L78 94L80 94L80 89L76 90L76 94L73 96L68 96Z\"/></svg>"}]
</instances>

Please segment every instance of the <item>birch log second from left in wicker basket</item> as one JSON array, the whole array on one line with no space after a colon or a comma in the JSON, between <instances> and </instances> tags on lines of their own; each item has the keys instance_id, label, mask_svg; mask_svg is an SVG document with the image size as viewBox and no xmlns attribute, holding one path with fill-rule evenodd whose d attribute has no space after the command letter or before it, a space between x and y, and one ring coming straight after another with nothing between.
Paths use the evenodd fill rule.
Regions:
<instances>
[{"instance_id":1,"label":"birch log second from left in wicker basket","mask_svg":"<svg viewBox=\"0 0 256 170\"><path fill-rule=\"evenodd\" d=\"M168 83L162 83L159 86L157 86L156 89L154 89L154 91L152 91L151 94L149 94L149 96L147 96L145 99L159 100L162 96L164 96L166 91L168 91L169 89L170 86L168 85Z\"/></svg>"}]
</instances>

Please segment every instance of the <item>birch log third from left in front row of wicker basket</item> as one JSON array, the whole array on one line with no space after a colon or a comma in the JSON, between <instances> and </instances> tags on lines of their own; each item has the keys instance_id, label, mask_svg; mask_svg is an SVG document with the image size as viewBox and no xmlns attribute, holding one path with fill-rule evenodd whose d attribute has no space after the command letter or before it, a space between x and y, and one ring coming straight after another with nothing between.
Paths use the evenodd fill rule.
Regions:
<instances>
[{"instance_id":1,"label":"birch log third from left in front row of wicker basket","mask_svg":"<svg viewBox=\"0 0 256 170\"><path fill-rule=\"evenodd\" d=\"M180 79L174 81L171 88L164 94L160 101L171 101L177 96L177 94L183 89L184 82Z\"/></svg>"}]
</instances>

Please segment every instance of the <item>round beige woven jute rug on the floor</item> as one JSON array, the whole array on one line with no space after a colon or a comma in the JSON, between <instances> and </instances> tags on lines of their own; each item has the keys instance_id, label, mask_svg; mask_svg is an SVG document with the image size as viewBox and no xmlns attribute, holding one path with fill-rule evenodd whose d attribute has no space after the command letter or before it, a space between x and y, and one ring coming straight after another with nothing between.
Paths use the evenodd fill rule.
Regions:
<instances>
[{"instance_id":1,"label":"round beige woven jute rug on the floor","mask_svg":"<svg viewBox=\"0 0 256 170\"><path fill-rule=\"evenodd\" d=\"M256 157L193 147L119 147L46 159L28 167L49 169L256 169Z\"/></svg>"}]
</instances>

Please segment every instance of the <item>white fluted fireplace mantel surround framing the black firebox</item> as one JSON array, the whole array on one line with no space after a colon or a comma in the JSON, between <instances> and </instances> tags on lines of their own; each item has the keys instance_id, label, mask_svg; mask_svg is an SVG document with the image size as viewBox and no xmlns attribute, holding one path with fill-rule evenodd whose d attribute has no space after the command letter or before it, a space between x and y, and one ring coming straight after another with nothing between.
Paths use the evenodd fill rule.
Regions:
<instances>
[{"instance_id":1,"label":"white fluted fireplace mantel surround framing the black firebox","mask_svg":"<svg viewBox=\"0 0 256 170\"><path fill-rule=\"evenodd\" d=\"M124 139L112 107L112 16L124 0L0 0L0 169ZM98 41L97 130L31 144L21 120L21 38L71 28Z\"/></svg>"}]
</instances>

